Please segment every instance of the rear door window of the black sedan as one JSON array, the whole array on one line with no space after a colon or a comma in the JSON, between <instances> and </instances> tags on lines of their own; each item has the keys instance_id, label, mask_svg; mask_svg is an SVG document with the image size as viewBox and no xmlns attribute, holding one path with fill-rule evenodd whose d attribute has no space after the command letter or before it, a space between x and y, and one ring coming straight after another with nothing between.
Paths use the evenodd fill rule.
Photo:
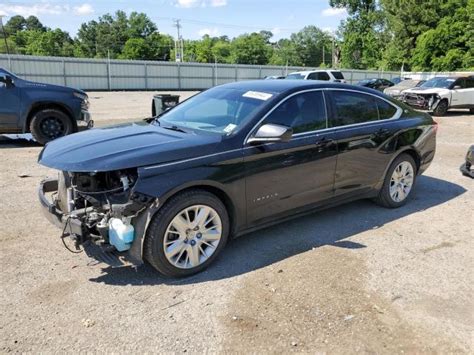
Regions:
<instances>
[{"instance_id":1,"label":"rear door window of the black sedan","mask_svg":"<svg viewBox=\"0 0 474 355\"><path fill-rule=\"evenodd\" d=\"M330 127L377 121L379 119L377 103L371 95L349 91L332 91L333 113Z\"/></svg>"}]
</instances>

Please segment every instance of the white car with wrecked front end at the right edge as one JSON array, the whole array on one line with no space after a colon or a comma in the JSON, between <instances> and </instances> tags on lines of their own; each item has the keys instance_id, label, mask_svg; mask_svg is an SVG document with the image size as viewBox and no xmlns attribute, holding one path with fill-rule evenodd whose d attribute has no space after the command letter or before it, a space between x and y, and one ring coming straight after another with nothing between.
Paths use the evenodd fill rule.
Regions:
<instances>
[{"instance_id":1,"label":"white car with wrecked front end at the right edge","mask_svg":"<svg viewBox=\"0 0 474 355\"><path fill-rule=\"evenodd\" d=\"M467 108L474 113L474 76L435 77L406 90L402 100L435 116L443 116L451 108Z\"/></svg>"}]
</instances>

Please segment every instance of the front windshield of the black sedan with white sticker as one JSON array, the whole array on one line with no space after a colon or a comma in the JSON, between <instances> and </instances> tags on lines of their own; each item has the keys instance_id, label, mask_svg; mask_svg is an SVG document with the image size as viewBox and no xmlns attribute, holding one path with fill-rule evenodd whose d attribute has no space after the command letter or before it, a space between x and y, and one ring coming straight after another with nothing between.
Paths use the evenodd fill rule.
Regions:
<instances>
[{"instance_id":1,"label":"front windshield of the black sedan with white sticker","mask_svg":"<svg viewBox=\"0 0 474 355\"><path fill-rule=\"evenodd\" d=\"M158 118L162 127L229 135L251 119L274 93L213 88L193 96Z\"/></svg>"}]
</instances>

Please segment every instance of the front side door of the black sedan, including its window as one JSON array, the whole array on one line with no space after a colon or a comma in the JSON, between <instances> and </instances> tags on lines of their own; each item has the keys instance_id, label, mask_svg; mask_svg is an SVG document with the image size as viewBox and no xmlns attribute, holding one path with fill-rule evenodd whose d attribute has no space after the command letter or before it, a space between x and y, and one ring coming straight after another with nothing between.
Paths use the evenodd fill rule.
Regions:
<instances>
[{"instance_id":1,"label":"front side door of the black sedan, including its window","mask_svg":"<svg viewBox=\"0 0 474 355\"><path fill-rule=\"evenodd\" d=\"M323 92L287 98L254 131L266 123L290 126L294 134L290 142L244 149L249 226L333 195L337 146L326 130Z\"/></svg>"}]
</instances>

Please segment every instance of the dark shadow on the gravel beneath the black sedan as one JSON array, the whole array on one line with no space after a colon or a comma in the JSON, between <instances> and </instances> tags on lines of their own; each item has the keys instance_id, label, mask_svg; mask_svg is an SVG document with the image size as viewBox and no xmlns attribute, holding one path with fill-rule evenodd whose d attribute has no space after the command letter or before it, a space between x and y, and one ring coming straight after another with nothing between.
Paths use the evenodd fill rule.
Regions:
<instances>
[{"instance_id":1,"label":"dark shadow on the gravel beneath the black sedan","mask_svg":"<svg viewBox=\"0 0 474 355\"><path fill-rule=\"evenodd\" d=\"M136 269L106 267L102 275L90 281L137 286L192 284L245 274L324 245L346 249L370 248L370 241L364 245L346 239L443 204L465 191L451 182L421 176L411 200L401 208L386 209L361 200L262 229L231 240L207 270L188 278L165 278L145 264Z\"/></svg>"}]
</instances>

